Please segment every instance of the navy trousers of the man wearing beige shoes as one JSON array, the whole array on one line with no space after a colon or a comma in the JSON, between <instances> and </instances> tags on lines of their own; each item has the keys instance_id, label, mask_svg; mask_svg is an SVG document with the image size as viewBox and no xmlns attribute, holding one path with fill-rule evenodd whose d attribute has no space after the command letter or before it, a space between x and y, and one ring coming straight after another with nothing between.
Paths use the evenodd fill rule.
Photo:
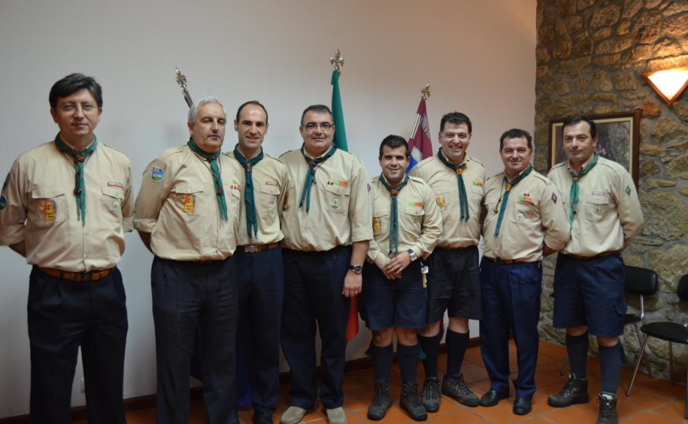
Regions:
<instances>
[{"instance_id":1,"label":"navy trousers of the man wearing beige shoes","mask_svg":"<svg viewBox=\"0 0 688 424\"><path fill-rule=\"evenodd\" d=\"M322 341L320 401L326 409L344 403L346 323L350 300L342 294L351 247L327 252L283 249L284 308L281 344L291 370L291 405L310 410L317 392L315 329Z\"/></svg>"}]
</instances>

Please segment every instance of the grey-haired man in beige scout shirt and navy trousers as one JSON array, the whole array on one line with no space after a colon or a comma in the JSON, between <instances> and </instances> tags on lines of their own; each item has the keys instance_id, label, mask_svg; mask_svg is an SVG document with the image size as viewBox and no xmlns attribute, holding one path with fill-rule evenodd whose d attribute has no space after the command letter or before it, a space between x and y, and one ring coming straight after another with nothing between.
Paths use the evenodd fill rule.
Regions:
<instances>
[{"instance_id":1,"label":"grey-haired man in beige scout shirt and navy trousers","mask_svg":"<svg viewBox=\"0 0 688 424\"><path fill-rule=\"evenodd\" d=\"M235 419L237 247L241 167L220 153L226 113L215 98L189 109L191 139L149 166L133 225L153 252L158 424L189 423L189 368L196 329L208 421Z\"/></svg>"}]
</instances>

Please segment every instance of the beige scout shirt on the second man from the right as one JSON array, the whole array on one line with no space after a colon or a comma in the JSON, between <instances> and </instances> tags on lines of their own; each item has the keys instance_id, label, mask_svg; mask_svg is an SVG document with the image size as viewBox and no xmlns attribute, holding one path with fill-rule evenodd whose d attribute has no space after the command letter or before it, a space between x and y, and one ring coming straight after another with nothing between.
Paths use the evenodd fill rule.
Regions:
<instances>
[{"instance_id":1,"label":"beige scout shirt on the second man from the right","mask_svg":"<svg viewBox=\"0 0 688 424\"><path fill-rule=\"evenodd\" d=\"M559 190L535 170L511 188L499 236L495 237L505 189L504 172L485 182L484 256L535 262L542 259L543 243L555 250L566 244L568 219Z\"/></svg>"}]
</instances>

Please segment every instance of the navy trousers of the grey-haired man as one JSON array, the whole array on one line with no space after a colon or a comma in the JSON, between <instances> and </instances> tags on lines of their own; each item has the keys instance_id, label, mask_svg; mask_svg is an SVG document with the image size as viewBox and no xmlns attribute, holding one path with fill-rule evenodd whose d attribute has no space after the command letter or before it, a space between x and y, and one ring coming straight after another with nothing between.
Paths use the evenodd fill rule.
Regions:
<instances>
[{"instance_id":1,"label":"navy trousers of the grey-haired man","mask_svg":"<svg viewBox=\"0 0 688 424\"><path fill-rule=\"evenodd\" d=\"M235 416L237 287L230 258L211 263L153 259L151 269L158 424L189 423L189 368L200 338L208 423Z\"/></svg>"}]
</instances>

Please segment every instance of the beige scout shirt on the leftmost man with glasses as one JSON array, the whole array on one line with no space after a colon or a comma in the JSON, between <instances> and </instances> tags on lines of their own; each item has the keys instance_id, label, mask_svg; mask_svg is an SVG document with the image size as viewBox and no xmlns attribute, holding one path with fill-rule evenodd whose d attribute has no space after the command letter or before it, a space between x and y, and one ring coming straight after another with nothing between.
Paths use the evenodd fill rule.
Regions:
<instances>
[{"instance_id":1,"label":"beige scout shirt on the leftmost man with glasses","mask_svg":"<svg viewBox=\"0 0 688 424\"><path fill-rule=\"evenodd\" d=\"M72 156L49 142L14 161L0 200L0 245L24 241L31 265L86 272L120 262L130 232L131 162L98 142L84 163L86 225L77 220Z\"/></svg>"}]
</instances>

